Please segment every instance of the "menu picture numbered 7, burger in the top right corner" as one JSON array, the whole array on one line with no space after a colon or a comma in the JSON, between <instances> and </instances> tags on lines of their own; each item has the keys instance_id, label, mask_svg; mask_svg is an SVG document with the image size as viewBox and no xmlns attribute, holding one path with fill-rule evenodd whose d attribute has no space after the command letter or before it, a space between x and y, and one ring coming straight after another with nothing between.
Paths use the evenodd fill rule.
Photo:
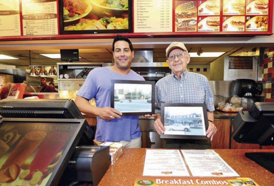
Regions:
<instances>
[{"instance_id":1,"label":"menu picture numbered 7, burger in the top right corner","mask_svg":"<svg viewBox=\"0 0 274 186\"><path fill-rule=\"evenodd\" d=\"M247 15L267 15L268 0L249 0L246 5Z\"/></svg>"}]
</instances>

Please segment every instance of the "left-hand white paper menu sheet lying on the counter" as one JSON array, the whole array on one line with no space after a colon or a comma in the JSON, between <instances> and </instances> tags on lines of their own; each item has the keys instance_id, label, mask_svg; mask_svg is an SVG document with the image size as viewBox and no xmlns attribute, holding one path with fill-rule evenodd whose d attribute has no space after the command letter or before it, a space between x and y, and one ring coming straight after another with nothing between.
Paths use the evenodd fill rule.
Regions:
<instances>
[{"instance_id":1,"label":"left-hand white paper menu sheet lying on the counter","mask_svg":"<svg viewBox=\"0 0 274 186\"><path fill-rule=\"evenodd\" d=\"M179 150L147 149L143 176L189 176Z\"/></svg>"}]
</instances>

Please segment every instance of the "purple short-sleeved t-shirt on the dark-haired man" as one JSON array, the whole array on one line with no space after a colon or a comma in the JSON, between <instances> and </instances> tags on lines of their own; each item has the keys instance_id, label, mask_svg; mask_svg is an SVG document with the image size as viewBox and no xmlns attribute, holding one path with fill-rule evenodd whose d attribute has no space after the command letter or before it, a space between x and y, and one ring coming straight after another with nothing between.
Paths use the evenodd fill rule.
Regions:
<instances>
[{"instance_id":1,"label":"purple short-sleeved t-shirt on the dark-haired man","mask_svg":"<svg viewBox=\"0 0 274 186\"><path fill-rule=\"evenodd\" d=\"M88 100L95 98L97 107L110 107L110 80L144 80L133 70L127 75L120 75L108 67L93 69L86 78L83 86L77 92L78 96ZM122 116L121 119L103 120L97 116L95 139L103 142L130 141L141 136L138 116Z\"/></svg>"}]
</instances>

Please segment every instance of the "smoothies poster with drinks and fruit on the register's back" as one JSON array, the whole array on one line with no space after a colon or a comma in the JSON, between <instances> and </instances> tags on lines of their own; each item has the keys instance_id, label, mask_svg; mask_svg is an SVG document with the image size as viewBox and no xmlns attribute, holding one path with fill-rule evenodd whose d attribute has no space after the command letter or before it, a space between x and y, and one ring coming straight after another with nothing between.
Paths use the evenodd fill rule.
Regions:
<instances>
[{"instance_id":1,"label":"smoothies poster with drinks and fruit on the register's back","mask_svg":"<svg viewBox=\"0 0 274 186\"><path fill-rule=\"evenodd\" d=\"M45 123L1 125L0 185L46 185L75 127Z\"/></svg>"}]
</instances>

